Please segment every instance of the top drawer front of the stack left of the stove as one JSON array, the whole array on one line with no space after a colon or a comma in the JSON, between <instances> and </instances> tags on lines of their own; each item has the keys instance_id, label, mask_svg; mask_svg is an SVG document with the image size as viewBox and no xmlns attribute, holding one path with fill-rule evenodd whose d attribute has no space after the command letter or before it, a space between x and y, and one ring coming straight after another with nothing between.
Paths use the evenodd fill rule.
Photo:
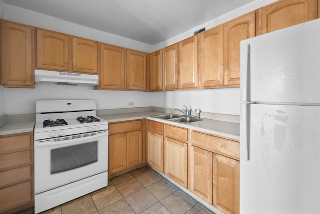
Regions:
<instances>
[{"instance_id":1,"label":"top drawer front of the stack left of the stove","mask_svg":"<svg viewBox=\"0 0 320 214\"><path fill-rule=\"evenodd\" d=\"M31 146L30 134L0 137L0 153Z\"/></svg>"}]
</instances>

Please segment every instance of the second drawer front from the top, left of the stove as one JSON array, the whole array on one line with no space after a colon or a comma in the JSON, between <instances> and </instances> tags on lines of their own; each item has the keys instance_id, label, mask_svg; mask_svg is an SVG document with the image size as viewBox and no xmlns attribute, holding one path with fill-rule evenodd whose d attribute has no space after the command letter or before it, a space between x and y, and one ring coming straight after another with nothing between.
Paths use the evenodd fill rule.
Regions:
<instances>
[{"instance_id":1,"label":"second drawer front from the top, left of the stove","mask_svg":"<svg viewBox=\"0 0 320 214\"><path fill-rule=\"evenodd\" d=\"M20 151L0 155L0 170L31 162L31 151Z\"/></svg>"}]
</instances>

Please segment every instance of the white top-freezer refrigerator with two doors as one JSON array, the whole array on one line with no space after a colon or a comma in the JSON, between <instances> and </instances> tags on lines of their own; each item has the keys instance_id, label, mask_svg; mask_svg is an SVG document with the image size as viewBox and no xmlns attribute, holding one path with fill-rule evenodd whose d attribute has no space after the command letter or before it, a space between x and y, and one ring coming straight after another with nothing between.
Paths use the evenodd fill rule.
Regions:
<instances>
[{"instance_id":1,"label":"white top-freezer refrigerator with two doors","mask_svg":"<svg viewBox=\"0 0 320 214\"><path fill-rule=\"evenodd\" d=\"M240 214L320 213L320 19L241 41Z\"/></svg>"}]
</instances>

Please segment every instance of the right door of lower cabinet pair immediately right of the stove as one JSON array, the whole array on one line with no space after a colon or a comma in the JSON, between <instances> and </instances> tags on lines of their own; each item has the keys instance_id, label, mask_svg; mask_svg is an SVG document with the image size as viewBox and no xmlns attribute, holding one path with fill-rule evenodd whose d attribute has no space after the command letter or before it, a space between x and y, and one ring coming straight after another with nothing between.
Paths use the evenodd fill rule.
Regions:
<instances>
[{"instance_id":1,"label":"right door of lower cabinet pair immediately right of the stove","mask_svg":"<svg viewBox=\"0 0 320 214\"><path fill-rule=\"evenodd\" d=\"M126 133L126 167L142 163L142 131Z\"/></svg>"}]
</instances>

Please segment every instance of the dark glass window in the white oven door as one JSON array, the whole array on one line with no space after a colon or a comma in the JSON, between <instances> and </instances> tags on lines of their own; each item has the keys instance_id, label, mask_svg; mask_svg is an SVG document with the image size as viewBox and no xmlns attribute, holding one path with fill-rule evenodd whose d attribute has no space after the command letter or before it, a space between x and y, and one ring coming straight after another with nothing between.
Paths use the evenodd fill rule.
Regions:
<instances>
[{"instance_id":1,"label":"dark glass window in the white oven door","mask_svg":"<svg viewBox=\"0 0 320 214\"><path fill-rule=\"evenodd\" d=\"M97 141L52 149L51 174L94 163L97 155Z\"/></svg>"}]
</instances>

